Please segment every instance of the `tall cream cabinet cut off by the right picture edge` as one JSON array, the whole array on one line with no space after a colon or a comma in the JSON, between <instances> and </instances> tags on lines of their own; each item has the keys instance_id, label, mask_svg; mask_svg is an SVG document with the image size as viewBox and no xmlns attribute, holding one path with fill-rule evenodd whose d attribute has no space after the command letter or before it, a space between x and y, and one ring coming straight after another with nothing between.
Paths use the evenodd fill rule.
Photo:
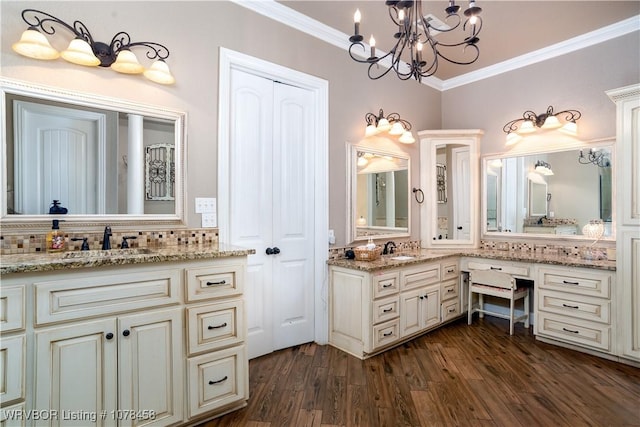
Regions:
<instances>
[{"instance_id":1,"label":"tall cream cabinet cut off by the right picture edge","mask_svg":"<svg viewBox=\"0 0 640 427\"><path fill-rule=\"evenodd\" d=\"M621 357L640 362L640 84L607 92L616 103L616 275Z\"/></svg>"}]
</instances>

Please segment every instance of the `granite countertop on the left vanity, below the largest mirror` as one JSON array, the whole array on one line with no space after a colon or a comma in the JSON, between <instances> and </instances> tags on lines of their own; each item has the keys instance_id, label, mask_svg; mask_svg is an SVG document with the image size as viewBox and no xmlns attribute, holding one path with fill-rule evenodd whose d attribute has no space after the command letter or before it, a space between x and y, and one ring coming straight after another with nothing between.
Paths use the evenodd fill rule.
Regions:
<instances>
[{"instance_id":1,"label":"granite countertop on the left vanity, below the largest mirror","mask_svg":"<svg viewBox=\"0 0 640 427\"><path fill-rule=\"evenodd\" d=\"M245 256L254 253L255 249L219 244L3 255L0 258L0 274L32 273L165 261L190 261Z\"/></svg>"}]
</instances>

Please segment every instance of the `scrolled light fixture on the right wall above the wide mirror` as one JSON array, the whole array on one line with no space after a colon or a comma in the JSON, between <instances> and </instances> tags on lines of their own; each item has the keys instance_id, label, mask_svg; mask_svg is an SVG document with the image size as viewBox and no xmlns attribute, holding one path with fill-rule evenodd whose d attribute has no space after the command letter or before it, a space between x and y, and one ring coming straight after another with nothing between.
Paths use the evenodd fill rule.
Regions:
<instances>
[{"instance_id":1,"label":"scrolled light fixture on the right wall above the wide mirror","mask_svg":"<svg viewBox=\"0 0 640 427\"><path fill-rule=\"evenodd\" d=\"M564 124L558 118L564 120ZM507 145L513 145L522 139L523 135L536 132L539 129L558 129L567 135L578 135L578 121L582 114L578 110L564 110L558 113L553 112L553 107L549 106L546 113L536 114L533 111L525 111L522 118L511 120L502 128L507 134Z\"/></svg>"}]
</instances>

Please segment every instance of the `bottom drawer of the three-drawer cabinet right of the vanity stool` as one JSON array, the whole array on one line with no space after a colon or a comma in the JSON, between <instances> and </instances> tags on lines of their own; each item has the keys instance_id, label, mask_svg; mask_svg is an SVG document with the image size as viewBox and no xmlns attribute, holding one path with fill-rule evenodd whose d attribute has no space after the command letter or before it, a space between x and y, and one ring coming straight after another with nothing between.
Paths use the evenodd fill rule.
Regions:
<instances>
[{"instance_id":1,"label":"bottom drawer of the three-drawer cabinet right of the vanity stool","mask_svg":"<svg viewBox=\"0 0 640 427\"><path fill-rule=\"evenodd\" d=\"M538 313L536 321L539 323L538 334L541 336L546 335L567 343L611 351L611 328L608 325L555 317L544 312Z\"/></svg>"}]
</instances>

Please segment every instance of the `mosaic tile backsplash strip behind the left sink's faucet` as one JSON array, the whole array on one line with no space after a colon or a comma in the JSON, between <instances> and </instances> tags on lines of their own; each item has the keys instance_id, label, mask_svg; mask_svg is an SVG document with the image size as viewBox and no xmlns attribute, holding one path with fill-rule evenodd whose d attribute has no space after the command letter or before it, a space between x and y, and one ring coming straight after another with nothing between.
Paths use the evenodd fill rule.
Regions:
<instances>
[{"instance_id":1,"label":"mosaic tile backsplash strip behind the left sink's faucet","mask_svg":"<svg viewBox=\"0 0 640 427\"><path fill-rule=\"evenodd\" d=\"M214 245L218 244L217 228L195 228L178 230L154 231L117 231L111 235L111 247L118 248L123 237L135 236L129 240L132 248L159 248L180 245ZM89 249L101 249L103 232L65 233L67 251L80 250L82 240L73 241L72 238L87 238ZM46 233L0 234L0 254L26 254L46 252Z\"/></svg>"}]
</instances>

